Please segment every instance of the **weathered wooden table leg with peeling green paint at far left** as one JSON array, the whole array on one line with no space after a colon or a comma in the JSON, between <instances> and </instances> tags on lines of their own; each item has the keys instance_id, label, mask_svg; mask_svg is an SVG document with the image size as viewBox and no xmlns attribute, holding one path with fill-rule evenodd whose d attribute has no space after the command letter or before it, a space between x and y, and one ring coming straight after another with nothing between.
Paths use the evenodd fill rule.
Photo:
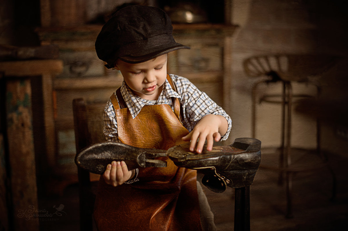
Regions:
<instances>
[{"instance_id":1,"label":"weathered wooden table leg with peeling green paint at far left","mask_svg":"<svg viewBox=\"0 0 348 231\"><path fill-rule=\"evenodd\" d=\"M7 81L6 88L14 230L39 230L30 79Z\"/></svg>"}]
</instances>

